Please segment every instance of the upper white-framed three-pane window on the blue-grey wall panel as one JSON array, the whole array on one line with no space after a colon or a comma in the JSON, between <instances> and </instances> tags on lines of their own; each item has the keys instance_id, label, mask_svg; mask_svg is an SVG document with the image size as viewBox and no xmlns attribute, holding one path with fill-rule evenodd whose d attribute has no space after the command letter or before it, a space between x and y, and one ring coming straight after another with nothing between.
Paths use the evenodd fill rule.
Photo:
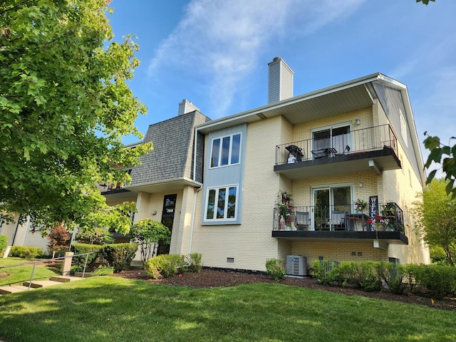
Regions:
<instances>
[{"instance_id":1,"label":"upper white-framed three-pane window on the blue-grey wall panel","mask_svg":"<svg viewBox=\"0 0 456 342\"><path fill-rule=\"evenodd\" d=\"M212 140L210 167L239 164L240 147L241 133Z\"/></svg>"}]
</instances>

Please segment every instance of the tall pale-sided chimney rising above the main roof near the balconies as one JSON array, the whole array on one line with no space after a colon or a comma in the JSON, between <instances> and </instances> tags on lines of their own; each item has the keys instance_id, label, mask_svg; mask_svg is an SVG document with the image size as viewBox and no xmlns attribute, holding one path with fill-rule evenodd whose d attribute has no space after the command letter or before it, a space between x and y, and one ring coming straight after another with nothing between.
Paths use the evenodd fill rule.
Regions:
<instances>
[{"instance_id":1,"label":"tall pale-sided chimney rising above the main roof near the balconies","mask_svg":"<svg viewBox=\"0 0 456 342\"><path fill-rule=\"evenodd\" d=\"M280 57L274 58L269 66L268 103L293 97L293 74L291 68Z\"/></svg>"}]
</instances>

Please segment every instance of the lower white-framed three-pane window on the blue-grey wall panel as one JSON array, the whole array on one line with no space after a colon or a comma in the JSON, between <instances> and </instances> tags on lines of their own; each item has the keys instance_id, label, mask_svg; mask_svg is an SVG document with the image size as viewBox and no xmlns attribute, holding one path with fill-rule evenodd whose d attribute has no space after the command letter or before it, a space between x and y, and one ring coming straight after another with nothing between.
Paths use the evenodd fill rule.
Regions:
<instances>
[{"instance_id":1,"label":"lower white-framed three-pane window on the blue-grey wall panel","mask_svg":"<svg viewBox=\"0 0 456 342\"><path fill-rule=\"evenodd\" d=\"M204 221L234 221L237 207L237 185L207 189Z\"/></svg>"}]
</instances>

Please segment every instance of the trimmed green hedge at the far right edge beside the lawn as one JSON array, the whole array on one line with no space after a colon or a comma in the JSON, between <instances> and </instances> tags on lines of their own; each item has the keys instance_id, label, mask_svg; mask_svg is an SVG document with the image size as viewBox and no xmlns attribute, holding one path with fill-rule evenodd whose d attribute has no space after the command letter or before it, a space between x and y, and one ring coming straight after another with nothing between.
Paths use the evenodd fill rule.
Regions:
<instances>
[{"instance_id":1,"label":"trimmed green hedge at the far right edge beside the lawn","mask_svg":"<svg viewBox=\"0 0 456 342\"><path fill-rule=\"evenodd\" d=\"M415 294L443 299L456 291L456 268L442 265L408 265L410 288Z\"/></svg>"}]
</instances>

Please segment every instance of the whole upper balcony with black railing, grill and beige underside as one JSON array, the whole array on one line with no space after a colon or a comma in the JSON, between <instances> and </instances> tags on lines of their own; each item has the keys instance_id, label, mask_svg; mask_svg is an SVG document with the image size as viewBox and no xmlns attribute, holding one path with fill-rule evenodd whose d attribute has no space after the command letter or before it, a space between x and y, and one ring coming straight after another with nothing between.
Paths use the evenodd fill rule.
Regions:
<instances>
[{"instance_id":1,"label":"whole upper balcony with black railing, grill and beige underside","mask_svg":"<svg viewBox=\"0 0 456 342\"><path fill-rule=\"evenodd\" d=\"M398 139L390 125L314 135L276 145L274 171L291 180L401 168ZM328 167L332 165L333 167Z\"/></svg>"}]
</instances>

